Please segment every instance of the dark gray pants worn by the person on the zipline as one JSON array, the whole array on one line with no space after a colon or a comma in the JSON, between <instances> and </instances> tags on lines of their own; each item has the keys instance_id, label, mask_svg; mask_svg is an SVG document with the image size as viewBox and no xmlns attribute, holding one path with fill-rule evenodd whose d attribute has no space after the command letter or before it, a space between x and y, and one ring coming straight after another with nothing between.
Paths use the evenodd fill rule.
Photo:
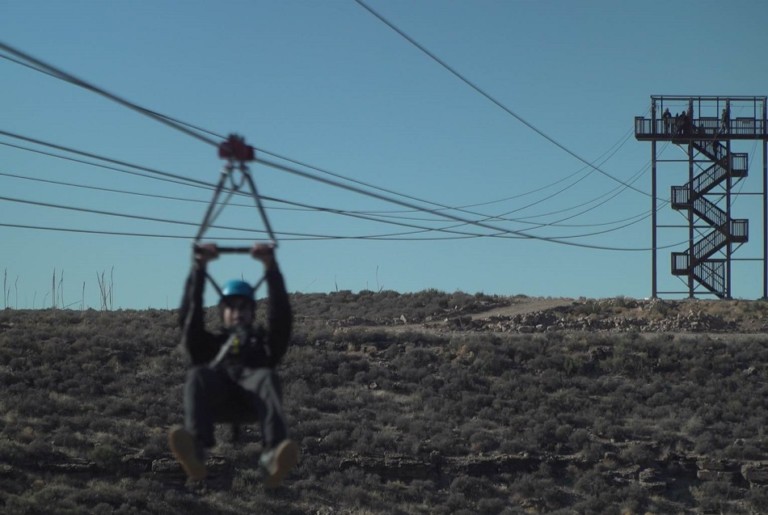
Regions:
<instances>
[{"instance_id":1,"label":"dark gray pants worn by the person on the zipline","mask_svg":"<svg viewBox=\"0 0 768 515\"><path fill-rule=\"evenodd\" d=\"M207 366L191 368L184 385L184 427L202 447L213 447L214 424L261 424L264 447L287 436L280 379L271 368L244 368L239 374Z\"/></svg>"}]
</instances>

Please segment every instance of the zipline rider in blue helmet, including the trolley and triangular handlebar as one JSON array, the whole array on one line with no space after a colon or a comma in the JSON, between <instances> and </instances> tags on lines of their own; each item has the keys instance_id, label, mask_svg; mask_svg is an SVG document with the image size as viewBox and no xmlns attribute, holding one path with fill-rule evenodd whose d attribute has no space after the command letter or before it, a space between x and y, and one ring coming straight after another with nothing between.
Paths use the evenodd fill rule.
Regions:
<instances>
[{"instance_id":1,"label":"zipline rider in blue helmet, including the trolley and triangular handlebar","mask_svg":"<svg viewBox=\"0 0 768 515\"><path fill-rule=\"evenodd\" d=\"M199 481L207 476L206 452L215 445L217 423L233 424L237 434L240 422L258 421L261 425L263 452L259 466L265 484L279 486L298 464L299 447L288 438L282 403L282 388L276 367L285 355L291 337L293 315L285 281L277 263L277 242L261 206L261 199L245 165L253 160L253 148L231 136L219 147L219 155L228 160L213 200L200 226L193 246L192 268L187 278L179 313L181 345L190 368L184 384L184 425L171 429L171 452L187 476ZM235 166L237 165L237 167ZM243 181L232 174L237 170ZM272 241L250 248L220 247L200 240L226 202L217 207L226 181L231 196L247 183L256 200L264 226ZM207 272L210 261L225 253L248 253L264 265L264 276L256 286L243 280L231 280L220 288ZM206 279L216 288L221 300L222 329L209 332L205 327L203 290ZM255 326L256 289L267 284L266 326Z\"/></svg>"}]
</instances>

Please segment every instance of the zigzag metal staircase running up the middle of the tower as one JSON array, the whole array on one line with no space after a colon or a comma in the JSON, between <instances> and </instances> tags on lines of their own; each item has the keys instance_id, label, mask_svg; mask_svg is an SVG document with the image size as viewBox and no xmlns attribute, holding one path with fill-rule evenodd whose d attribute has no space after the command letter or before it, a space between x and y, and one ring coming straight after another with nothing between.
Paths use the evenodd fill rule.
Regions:
<instances>
[{"instance_id":1,"label":"zigzag metal staircase running up the middle of the tower","mask_svg":"<svg viewBox=\"0 0 768 515\"><path fill-rule=\"evenodd\" d=\"M692 147L712 164L684 186L672 186L672 208L688 211L691 226L694 220L711 227L685 252L672 253L672 274L688 276L719 298L728 298L727 259L713 257L726 251L732 243L745 243L749 238L749 220L732 219L707 198L714 188L729 179L747 176L746 153L729 153L716 139L690 140ZM728 247L728 248L727 248Z\"/></svg>"}]
</instances>

